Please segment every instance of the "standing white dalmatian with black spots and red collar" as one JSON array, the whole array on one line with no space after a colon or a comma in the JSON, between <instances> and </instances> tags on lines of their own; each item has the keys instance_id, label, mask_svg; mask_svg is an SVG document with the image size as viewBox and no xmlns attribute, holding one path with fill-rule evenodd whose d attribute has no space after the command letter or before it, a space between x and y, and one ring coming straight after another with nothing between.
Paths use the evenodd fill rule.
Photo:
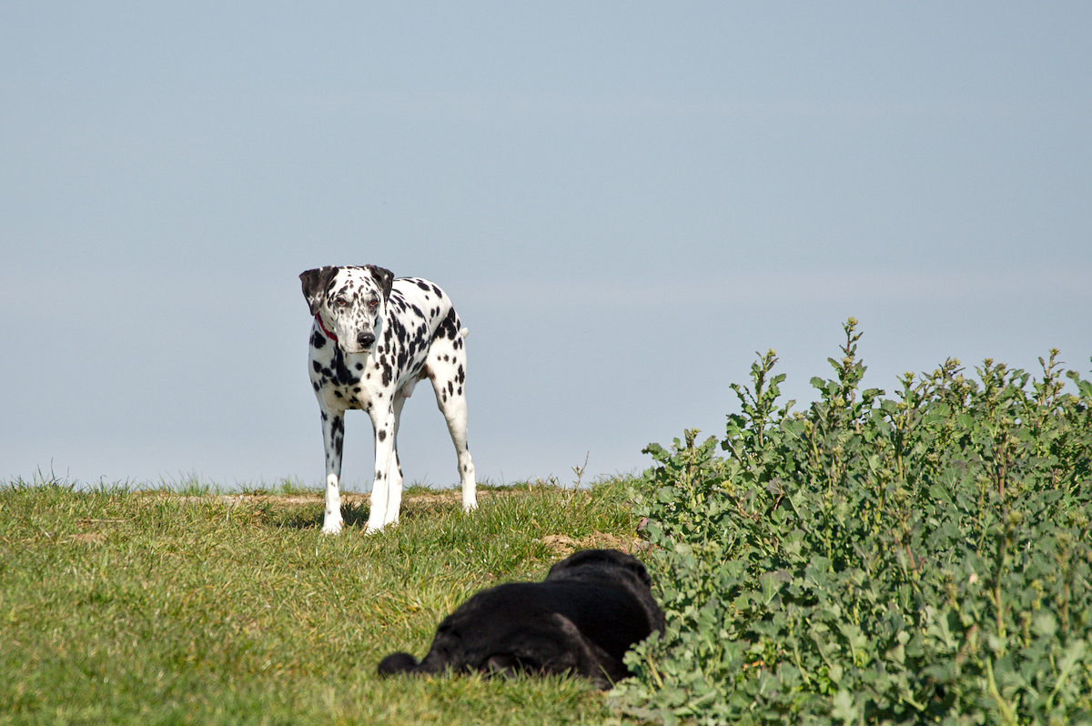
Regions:
<instances>
[{"instance_id":1,"label":"standing white dalmatian with black spots and red collar","mask_svg":"<svg viewBox=\"0 0 1092 726\"><path fill-rule=\"evenodd\" d=\"M455 444L463 509L477 508L463 392L468 331L461 326L451 299L427 279L394 279L390 270L376 265L318 267L299 279L314 316L308 371L322 413L327 450L322 532L339 534L342 528L342 443L349 408L367 412L376 437L376 477L366 531L378 532L399 521L399 418L417 381L425 378L432 382Z\"/></svg>"}]
</instances>

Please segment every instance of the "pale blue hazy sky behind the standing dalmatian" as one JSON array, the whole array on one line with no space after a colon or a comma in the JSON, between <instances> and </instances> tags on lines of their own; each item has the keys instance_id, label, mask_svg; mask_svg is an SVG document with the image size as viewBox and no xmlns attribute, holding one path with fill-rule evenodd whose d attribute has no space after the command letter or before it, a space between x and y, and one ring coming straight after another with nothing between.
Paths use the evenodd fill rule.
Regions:
<instances>
[{"instance_id":1,"label":"pale blue hazy sky behind the standing dalmatian","mask_svg":"<svg viewBox=\"0 0 1092 726\"><path fill-rule=\"evenodd\" d=\"M0 479L322 479L299 272L471 329L492 481L948 356L1092 368L1092 4L0 4ZM418 389L406 479L456 481ZM370 487L348 417L344 481Z\"/></svg>"}]
</instances>

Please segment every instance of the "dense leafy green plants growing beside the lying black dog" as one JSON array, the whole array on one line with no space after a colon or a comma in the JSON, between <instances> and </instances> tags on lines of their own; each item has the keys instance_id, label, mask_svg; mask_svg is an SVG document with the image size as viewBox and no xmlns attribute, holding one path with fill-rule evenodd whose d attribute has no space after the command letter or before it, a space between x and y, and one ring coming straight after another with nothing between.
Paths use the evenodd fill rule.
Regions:
<instances>
[{"instance_id":1,"label":"dense leafy green plants growing beside the lying black dog","mask_svg":"<svg viewBox=\"0 0 1092 726\"><path fill-rule=\"evenodd\" d=\"M856 321L806 412L771 350L741 413L634 490L667 632L630 715L698 724L1092 723L1092 383L986 360L859 390ZM1030 386L1029 386L1030 383Z\"/></svg>"}]
</instances>

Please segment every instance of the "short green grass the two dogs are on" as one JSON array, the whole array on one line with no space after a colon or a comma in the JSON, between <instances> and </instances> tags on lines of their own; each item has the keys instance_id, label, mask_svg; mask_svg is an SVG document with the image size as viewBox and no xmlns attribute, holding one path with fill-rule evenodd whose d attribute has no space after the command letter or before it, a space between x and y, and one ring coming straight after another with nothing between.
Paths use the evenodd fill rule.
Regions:
<instances>
[{"instance_id":1,"label":"short green grass the two dogs are on","mask_svg":"<svg viewBox=\"0 0 1092 726\"><path fill-rule=\"evenodd\" d=\"M543 576L565 543L632 543L626 486L483 487L471 515L458 492L416 487L375 536L349 497L328 537L320 496L294 483L0 485L0 724L617 718L580 679L381 680L376 664L424 655L468 595Z\"/></svg>"}]
</instances>

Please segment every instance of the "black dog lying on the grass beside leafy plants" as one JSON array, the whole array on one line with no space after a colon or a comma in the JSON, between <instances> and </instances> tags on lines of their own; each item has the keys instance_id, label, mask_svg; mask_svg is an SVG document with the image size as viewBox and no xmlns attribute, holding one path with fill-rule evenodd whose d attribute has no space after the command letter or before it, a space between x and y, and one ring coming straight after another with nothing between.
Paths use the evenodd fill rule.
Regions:
<instances>
[{"instance_id":1,"label":"black dog lying on the grass beside leafy plants","mask_svg":"<svg viewBox=\"0 0 1092 726\"><path fill-rule=\"evenodd\" d=\"M392 653L379 674L571 671L600 689L630 676L622 656L664 614L641 561L617 549L585 549L543 582L511 582L477 593L436 629L425 659Z\"/></svg>"}]
</instances>

